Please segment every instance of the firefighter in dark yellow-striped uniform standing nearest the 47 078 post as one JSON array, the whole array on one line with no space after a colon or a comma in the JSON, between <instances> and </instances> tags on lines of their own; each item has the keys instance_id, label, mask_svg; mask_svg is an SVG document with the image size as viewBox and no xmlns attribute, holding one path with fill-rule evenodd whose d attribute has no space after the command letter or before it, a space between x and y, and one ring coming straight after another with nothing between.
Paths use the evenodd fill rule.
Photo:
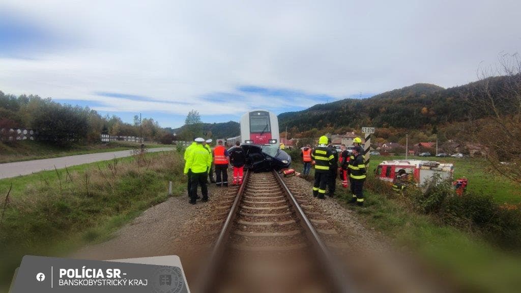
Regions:
<instances>
[{"instance_id":1,"label":"firefighter in dark yellow-striped uniform standing nearest the 47 078 post","mask_svg":"<svg viewBox=\"0 0 521 293\"><path fill-rule=\"evenodd\" d=\"M351 179L351 192L353 197L351 203L356 202L358 205L364 205L364 181L366 177L365 159L362 155L362 148L355 146L351 156L353 159L348 164L348 174Z\"/></svg>"}]
</instances>

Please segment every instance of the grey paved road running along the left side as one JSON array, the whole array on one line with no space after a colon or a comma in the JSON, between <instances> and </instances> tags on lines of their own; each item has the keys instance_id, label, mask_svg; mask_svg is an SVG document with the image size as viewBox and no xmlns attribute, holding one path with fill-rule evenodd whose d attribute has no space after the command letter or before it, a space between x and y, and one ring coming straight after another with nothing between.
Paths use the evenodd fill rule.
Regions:
<instances>
[{"instance_id":1,"label":"grey paved road running along the left side","mask_svg":"<svg viewBox=\"0 0 521 293\"><path fill-rule=\"evenodd\" d=\"M155 148L148 149L148 152L171 151L173 148ZM16 177L19 175L27 175L43 170L54 170L56 168L65 168L65 166L75 166L92 162L107 161L114 157L127 157L132 154L132 150L86 154L56 158L45 158L43 160L33 160L15 163L0 164L0 179Z\"/></svg>"}]
</instances>

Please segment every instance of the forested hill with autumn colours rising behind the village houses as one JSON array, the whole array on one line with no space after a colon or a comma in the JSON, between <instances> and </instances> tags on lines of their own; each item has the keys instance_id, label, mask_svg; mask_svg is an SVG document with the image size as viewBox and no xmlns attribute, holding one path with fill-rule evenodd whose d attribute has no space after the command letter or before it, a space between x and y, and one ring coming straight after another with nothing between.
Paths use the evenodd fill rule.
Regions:
<instances>
[{"instance_id":1,"label":"forested hill with autumn colours rising behind the village houses","mask_svg":"<svg viewBox=\"0 0 521 293\"><path fill-rule=\"evenodd\" d=\"M501 78L494 78L500 82ZM477 82L444 89L435 84L417 83L384 92L368 99L344 99L318 104L299 112L280 114L280 129L293 132L312 128L339 129L361 126L420 129L452 121L461 121L469 111L464 95Z\"/></svg>"}]
</instances>

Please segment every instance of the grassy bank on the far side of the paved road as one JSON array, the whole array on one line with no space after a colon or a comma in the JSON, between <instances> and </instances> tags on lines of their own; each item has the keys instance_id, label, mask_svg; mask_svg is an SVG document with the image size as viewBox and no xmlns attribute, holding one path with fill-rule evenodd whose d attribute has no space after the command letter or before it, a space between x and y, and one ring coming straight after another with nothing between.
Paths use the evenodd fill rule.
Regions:
<instances>
[{"instance_id":1,"label":"grassy bank on the far side of the paved road","mask_svg":"<svg viewBox=\"0 0 521 293\"><path fill-rule=\"evenodd\" d=\"M138 148L139 143L113 141L107 144L57 146L40 141L22 141L14 143L0 142L0 164L39 160L71 155L115 152ZM146 144L147 148L160 148L163 144Z\"/></svg>"}]
</instances>

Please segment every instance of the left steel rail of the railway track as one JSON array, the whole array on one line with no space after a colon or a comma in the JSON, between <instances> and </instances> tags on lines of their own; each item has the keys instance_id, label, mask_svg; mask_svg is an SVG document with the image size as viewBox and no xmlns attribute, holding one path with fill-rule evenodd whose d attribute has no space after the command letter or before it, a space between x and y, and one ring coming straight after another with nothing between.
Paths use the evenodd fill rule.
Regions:
<instances>
[{"instance_id":1,"label":"left steel rail of the railway track","mask_svg":"<svg viewBox=\"0 0 521 293\"><path fill-rule=\"evenodd\" d=\"M219 234L219 237L215 242L212 254L210 254L209 262L205 267L205 270L203 271L201 277L199 278L199 280L201 280L202 282L202 285L198 288L197 292L213 292L212 286L215 284L216 278L216 275L213 272L215 271L215 268L218 266L218 264L221 262L222 254L224 253L224 250L226 248L226 241L230 236L230 231L233 226L233 220L235 219L235 216L237 216L237 210L239 209L239 204L244 194L244 188L246 187L249 177L250 171L247 170L243 179L243 183L237 191L237 196L235 197L235 200L233 201L233 204L230 208L230 212L226 217L225 224L222 226L221 233Z\"/></svg>"}]
</instances>

